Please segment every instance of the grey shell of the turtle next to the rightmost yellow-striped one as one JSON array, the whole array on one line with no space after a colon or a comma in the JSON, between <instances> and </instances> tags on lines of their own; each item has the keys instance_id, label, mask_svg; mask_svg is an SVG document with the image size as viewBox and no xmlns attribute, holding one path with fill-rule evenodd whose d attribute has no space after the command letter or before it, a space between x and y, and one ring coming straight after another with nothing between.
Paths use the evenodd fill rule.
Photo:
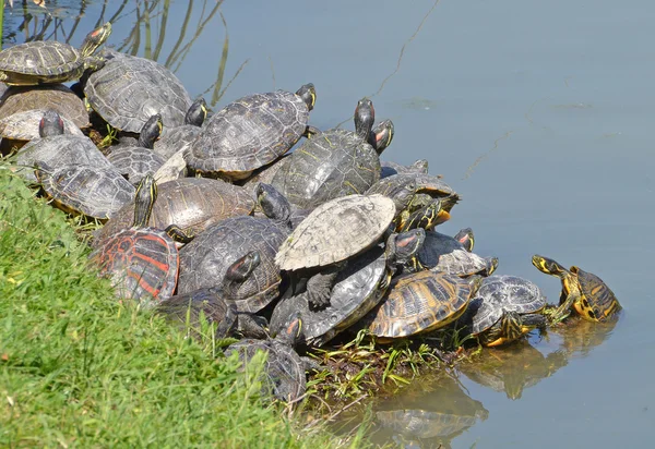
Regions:
<instances>
[{"instance_id":1,"label":"grey shell of the turtle next to the rightmost yellow-striped one","mask_svg":"<svg viewBox=\"0 0 655 449\"><path fill-rule=\"evenodd\" d=\"M489 276L471 303L472 332L478 335L490 329L504 311L525 315L545 306L546 296L534 282L517 276Z\"/></svg>"}]
</instances>

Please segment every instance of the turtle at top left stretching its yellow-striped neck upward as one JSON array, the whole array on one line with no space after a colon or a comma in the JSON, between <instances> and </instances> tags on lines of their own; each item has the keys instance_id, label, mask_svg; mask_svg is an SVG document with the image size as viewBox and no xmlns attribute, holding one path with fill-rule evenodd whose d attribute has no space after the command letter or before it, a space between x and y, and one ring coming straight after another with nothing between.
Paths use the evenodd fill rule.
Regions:
<instances>
[{"instance_id":1,"label":"turtle at top left stretching its yellow-striped neck upward","mask_svg":"<svg viewBox=\"0 0 655 449\"><path fill-rule=\"evenodd\" d=\"M78 80L102 59L93 54L111 34L107 22L88 33L79 49L56 40L20 44L0 51L0 81L9 85L64 83Z\"/></svg>"}]
</instances>

